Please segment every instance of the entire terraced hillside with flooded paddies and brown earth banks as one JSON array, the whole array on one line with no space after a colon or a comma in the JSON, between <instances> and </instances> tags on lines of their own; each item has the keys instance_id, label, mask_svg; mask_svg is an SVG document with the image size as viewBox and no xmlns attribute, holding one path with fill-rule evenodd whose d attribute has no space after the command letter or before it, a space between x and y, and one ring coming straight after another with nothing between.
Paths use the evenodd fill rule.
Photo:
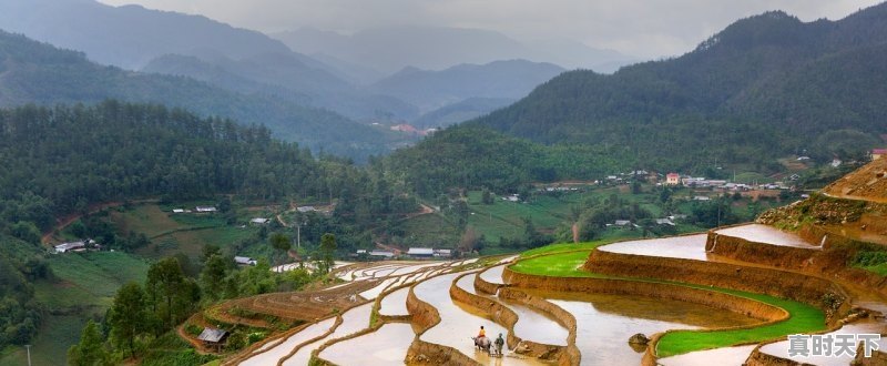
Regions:
<instances>
[{"instance_id":1,"label":"entire terraced hillside with flooded paddies and brown earth banks","mask_svg":"<svg viewBox=\"0 0 887 366\"><path fill-rule=\"evenodd\" d=\"M789 352L795 334L887 334L877 271L887 248L798 212L842 200L815 195L761 220L794 214L795 231L743 224L460 262L351 264L328 288L237 299L202 316L268 329L300 324L227 365L885 365L876 349ZM233 316L235 307L253 318ZM480 326L503 336L501 356L473 345ZM873 345L887 349L883 339Z\"/></svg>"}]
</instances>

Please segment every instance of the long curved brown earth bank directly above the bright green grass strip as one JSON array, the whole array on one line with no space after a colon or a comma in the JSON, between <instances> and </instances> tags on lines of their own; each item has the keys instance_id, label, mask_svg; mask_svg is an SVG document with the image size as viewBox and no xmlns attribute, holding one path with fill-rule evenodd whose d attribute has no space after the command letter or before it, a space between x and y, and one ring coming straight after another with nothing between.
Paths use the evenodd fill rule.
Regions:
<instances>
[{"instance_id":1,"label":"long curved brown earth bank directly above the bright green grass strip","mask_svg":"<svg viewBox=\"0 0 887 366\"><path fill-rule=\"evenodd\" d=\"M721 244L718 244L718 246L720 245ZM655 278L752 293L764 293L810 304L823 309L828 307L828 312L832 313L838 311L837 306L834 305L835 302L842 305L848 303L846 302L844 291L830 281L793 272L762 267L619 254L595 250L589 256L583 268L594 273L619 277ZM629 286L649 285L635 285L632 283ZM669 287L664 284L655 284L655 286L662 288ZM734 296L726 296L735 298ZM823 301L824 298L832 298L835 302L825 304ZM675 299L694 302L693 298Z\"/></svg>"}]
</instances>

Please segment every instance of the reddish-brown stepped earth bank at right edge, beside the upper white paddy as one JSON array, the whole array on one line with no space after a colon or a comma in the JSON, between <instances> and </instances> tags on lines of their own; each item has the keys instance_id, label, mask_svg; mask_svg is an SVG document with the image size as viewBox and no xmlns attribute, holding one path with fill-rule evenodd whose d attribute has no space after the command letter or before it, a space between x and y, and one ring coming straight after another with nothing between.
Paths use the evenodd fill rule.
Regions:
<instances>
[{"instance_id":1,"label":"reddish-brown stepped earth bank at right edge, beside the upper white paddy","mask_svg":"<svg viewBox=\"0 0 887 366\"><path fill-rule=\"evenodd\" d=\"M865 286L887 296L887 277L848 267L858 251L880 247L835 235L813 225L804 226L798 235L808 242L824 243L824 248L777 246L715 233L708 233L705 247L706 251L730 260L827 276L840 283Z\"/></svg>"}]
</instances>

